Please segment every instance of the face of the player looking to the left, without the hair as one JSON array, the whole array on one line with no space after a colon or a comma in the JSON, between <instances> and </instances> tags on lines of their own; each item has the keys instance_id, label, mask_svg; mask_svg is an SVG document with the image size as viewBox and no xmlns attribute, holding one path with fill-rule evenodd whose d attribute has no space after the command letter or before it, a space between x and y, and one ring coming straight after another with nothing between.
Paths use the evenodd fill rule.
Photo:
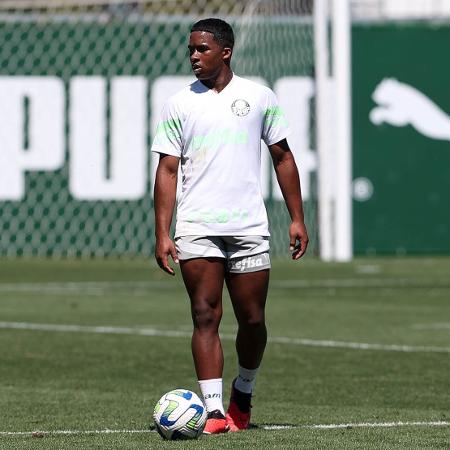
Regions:
<instances>
[{"instance_id":1,"label":"face of the player looking to the left, without the hair","mask_svg":"<svg viewBox=\"0 0 450 450\"><path fill-rule=\"evenodd\" d=\"M218 44L208 31L193 31L188 48L192 70L199 80L216 78L231 58L231 49Z\"/></svg>"}]
</instances>

